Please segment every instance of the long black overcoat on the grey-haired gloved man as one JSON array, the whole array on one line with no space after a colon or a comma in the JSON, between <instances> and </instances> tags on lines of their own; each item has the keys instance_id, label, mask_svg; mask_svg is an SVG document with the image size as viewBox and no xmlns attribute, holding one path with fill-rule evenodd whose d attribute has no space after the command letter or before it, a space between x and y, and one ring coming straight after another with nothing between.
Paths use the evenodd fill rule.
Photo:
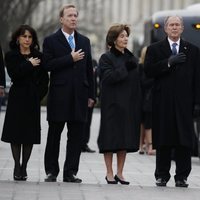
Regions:
<instances>
[{"instance_id":1,"label":"long black overcoat on the grey-haired gloved man","mask_svg":"<svg viewBox=\"0 0 200 200\"><path fill-rule=\"evenodd\" d=\"M192 147L194 140L193 107L200 103L199 49L180 40L179 52L186 62L168 67L172 54L167 39L148 47L145 72L154 78L153 146Z\"/></svg>"}]
</instances>

